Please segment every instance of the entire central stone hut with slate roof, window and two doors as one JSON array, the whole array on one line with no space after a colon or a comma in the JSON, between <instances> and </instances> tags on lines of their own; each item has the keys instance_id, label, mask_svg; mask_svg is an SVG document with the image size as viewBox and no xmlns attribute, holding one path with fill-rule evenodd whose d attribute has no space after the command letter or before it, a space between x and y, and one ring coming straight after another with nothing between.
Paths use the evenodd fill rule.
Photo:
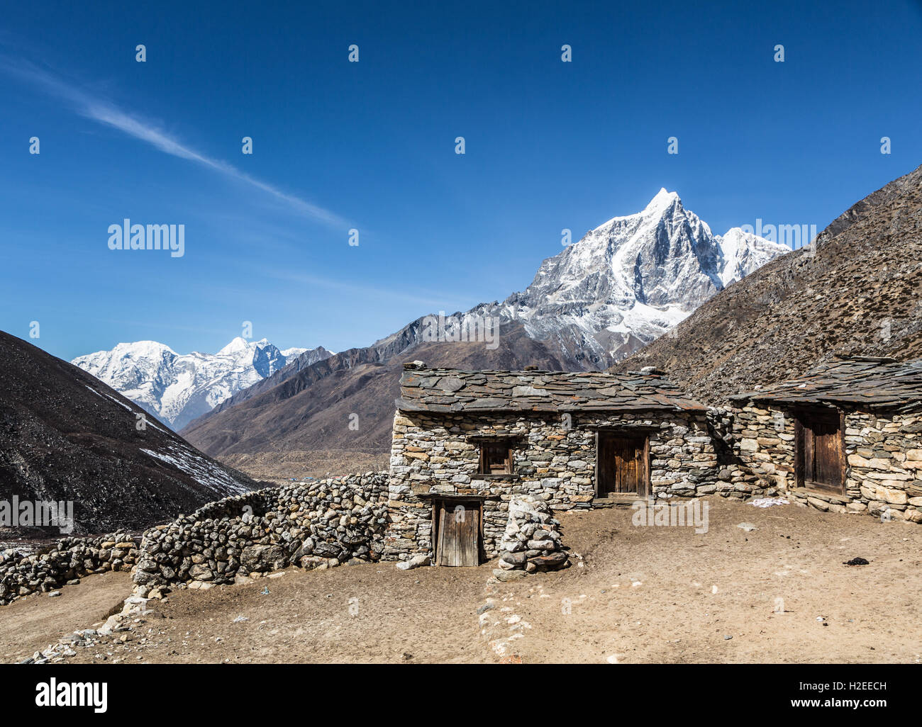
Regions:
<instances>
[{"instance_id":1,"label":"entire central stone hut with slate roof, window and two doors","mask_svg":"<svg viewBox=\"0 0 922 727\"><path fill-rule=\"evenodd\" d=\"M509 501L552 510L715 492L707 409L662 371L461 371L404 364L384 558L496 557Z\"/></svg>"}]
</instances>

